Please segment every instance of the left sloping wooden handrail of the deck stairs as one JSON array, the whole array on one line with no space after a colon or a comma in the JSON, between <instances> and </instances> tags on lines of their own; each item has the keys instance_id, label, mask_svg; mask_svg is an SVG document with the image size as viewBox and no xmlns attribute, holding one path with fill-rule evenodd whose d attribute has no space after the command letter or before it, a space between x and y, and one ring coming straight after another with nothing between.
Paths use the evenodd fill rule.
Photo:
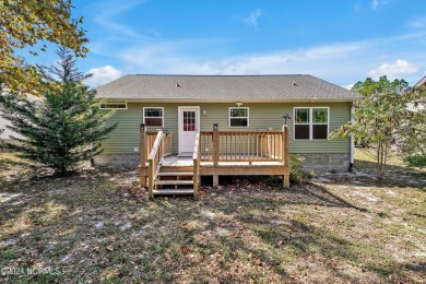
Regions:
<instances>
[{"instance_id":1,"label":"left sloping wooden handrail of the deck stairs","mask_svg":"<svg viewBox=\"0 0 426 284\"><path fill-rule=\"evenodd\" d=\"M155 138L154 145L151 150L150 156L147 157L149 165L149 182L147 190L149 197L154 198L154 182L157 178L161 163L164 158L164 132L158 130L157 137Z\"/></svg>"}]
</instances>

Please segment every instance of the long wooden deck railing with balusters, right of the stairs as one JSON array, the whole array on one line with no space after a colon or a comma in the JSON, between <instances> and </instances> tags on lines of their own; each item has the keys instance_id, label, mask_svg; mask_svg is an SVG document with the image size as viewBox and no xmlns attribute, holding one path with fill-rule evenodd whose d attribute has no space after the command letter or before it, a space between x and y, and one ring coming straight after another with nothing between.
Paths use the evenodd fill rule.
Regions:
<instances>
[{"instance_id":1,"label":"long wooden deck railing with balusters, right of the stairs","mask_svg":"<svg viewBox=\"0 0 426 284\"><path fill-rule=\"evenodd\" d=\"M288 128L282 131L202 131L201 161L213 162L282 162L287 164Z\"/></svg>"}]
</instances>

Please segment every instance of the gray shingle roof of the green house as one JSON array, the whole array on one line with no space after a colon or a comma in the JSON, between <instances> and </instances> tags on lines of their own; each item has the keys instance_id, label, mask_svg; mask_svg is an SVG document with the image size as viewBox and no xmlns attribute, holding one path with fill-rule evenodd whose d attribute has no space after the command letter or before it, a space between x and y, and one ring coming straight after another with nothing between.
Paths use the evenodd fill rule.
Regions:
<instances>
[{"instance_id":1,"label":"gray shingle roof of the green house","mask_svg":"<svg viewBox=\"0 0 426 284\"><path fill-rule=\"evenodd\" d=\"M163 102L355 100L360 96L312 75L125 75L98 98Z\"/></svg>"}]
</instances>

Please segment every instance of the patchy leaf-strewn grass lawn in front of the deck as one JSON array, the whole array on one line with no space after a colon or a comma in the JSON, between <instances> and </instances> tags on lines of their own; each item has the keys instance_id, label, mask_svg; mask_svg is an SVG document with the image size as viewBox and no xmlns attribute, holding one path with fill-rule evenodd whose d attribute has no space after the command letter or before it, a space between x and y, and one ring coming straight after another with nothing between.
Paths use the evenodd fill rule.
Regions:
<instances>
[{"instance_id":1,"label":"patchy leaf-strewn grass lawn in front of the deck","mask_svg":"<svg viewBox=\"0 0 426 284\"><path fill-rule=\"evenodd\" d=\"M286 190L279 178L221 179L196 202L149 201L135 171L49 177L0 154L0 270L55 272L0 282L424 281L425 173L393 164L378 182L357 157L358 174Z\"/></svg>"}]
</instances>

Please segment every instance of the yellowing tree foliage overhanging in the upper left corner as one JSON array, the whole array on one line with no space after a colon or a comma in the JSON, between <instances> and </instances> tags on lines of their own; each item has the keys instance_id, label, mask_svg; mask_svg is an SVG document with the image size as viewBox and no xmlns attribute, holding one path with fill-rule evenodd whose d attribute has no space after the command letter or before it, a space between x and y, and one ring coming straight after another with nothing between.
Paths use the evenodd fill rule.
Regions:
<instances>
[{"instance_id":1,"label":"yellowing tree foliage overhanging in the upper left corner","mask_svg":"<svg viewBox=\"0 0 426 284\"><path fill-rule=\"evenodd\" d=\"M81 27L83 17L72 17L72 8L71 0L0 1L0 90L35 94L42 86L42 75L17 50L37 56L49 42L85 56L88 39Z\"/></svg>"}]
</instances>

